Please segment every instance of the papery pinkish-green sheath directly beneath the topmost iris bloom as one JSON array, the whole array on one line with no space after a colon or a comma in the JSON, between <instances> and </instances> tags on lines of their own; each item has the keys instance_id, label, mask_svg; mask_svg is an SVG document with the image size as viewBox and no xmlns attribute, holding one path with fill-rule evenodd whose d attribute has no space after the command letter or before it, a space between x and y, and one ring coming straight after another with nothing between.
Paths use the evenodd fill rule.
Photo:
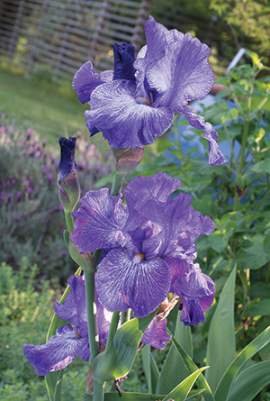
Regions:
<instances>
[{"instance_id":1,"label":"papery pinkish-green sheath directly beneath the topmost iris bloom","mask_svg":"<svg viewBox=\"0 0 270 401\"><path fill-rule=\"evenodd\" d=\"M128 173L135 169L143 158L143 149L115 149L112 148L112 154L116 163L116 171L121 174Z\"/></svg>"}]
</instances>

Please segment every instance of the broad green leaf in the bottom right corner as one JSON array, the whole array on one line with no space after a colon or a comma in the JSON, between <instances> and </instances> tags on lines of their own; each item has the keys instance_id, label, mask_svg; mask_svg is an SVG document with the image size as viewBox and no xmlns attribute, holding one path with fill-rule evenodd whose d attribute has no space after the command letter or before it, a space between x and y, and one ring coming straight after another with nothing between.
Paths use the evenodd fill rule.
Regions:
<instances>
[{"instance_id":1,"label":"broad green leaf in the bottom right corner","mask_svg":"<svg viewBox=\"0 0 270 401\"><path fill-rule=\"evenodd\" d=\"M229 401L252 401L270 383L270 360L243 370L229 390Z\"/></svg>"}]
</instances>

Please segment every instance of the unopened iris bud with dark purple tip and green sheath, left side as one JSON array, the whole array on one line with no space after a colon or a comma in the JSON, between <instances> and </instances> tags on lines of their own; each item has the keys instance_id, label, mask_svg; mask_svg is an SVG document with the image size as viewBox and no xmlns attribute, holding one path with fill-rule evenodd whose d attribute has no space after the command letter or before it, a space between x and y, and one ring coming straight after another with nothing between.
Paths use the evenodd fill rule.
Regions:
<instances>
[{"instance_id":1,"label":"unopened iris bud with dark purple tip and green sheath, left side","mask_svg":"<svg viewBox=\"0 0 270 401\"><path fill-rule=\"evenodd\" d=\"M80 185L76 175L76 137L60 137L61 149L58 163L58 195L65 213L71 213L80 198Z\"/></svg>"}]
</instances>

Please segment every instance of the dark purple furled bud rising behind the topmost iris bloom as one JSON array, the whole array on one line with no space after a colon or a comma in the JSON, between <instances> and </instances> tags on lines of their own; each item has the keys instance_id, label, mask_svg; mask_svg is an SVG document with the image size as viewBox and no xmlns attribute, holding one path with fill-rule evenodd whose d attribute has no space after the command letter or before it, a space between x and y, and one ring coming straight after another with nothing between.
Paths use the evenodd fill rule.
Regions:
<instances>
[{"instance_id":1,"label":"dark purple furled bud rising behind the topmost iris bloom","mask_svg":"<svg viewBox=\"0 0 270 401\"><path fill-rule=\"evenodd\" d=\"M136 82L134 60L135 48L132 44L128 43L114 43L114 79L127 79L131 82Z\"/></svg>"}]
</instances>

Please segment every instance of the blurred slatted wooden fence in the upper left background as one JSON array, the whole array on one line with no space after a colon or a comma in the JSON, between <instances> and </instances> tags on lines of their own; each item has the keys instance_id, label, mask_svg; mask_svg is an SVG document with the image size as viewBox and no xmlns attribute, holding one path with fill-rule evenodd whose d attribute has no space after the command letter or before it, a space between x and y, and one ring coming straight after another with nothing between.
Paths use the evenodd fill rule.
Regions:
<instances>
[{"instance_id":1,"label":"blurred slatted wooden fence in the upper left background","mask_svg":"<svg viewBox=\"0 0 270 401\"><path fill-rule=\"evenodd\" d=\"M4 0L0 50L31 73L36 63L70 77L87 59L112 68L112 43L139 49L149 0Z\"/></svg>"}]
</instances>

